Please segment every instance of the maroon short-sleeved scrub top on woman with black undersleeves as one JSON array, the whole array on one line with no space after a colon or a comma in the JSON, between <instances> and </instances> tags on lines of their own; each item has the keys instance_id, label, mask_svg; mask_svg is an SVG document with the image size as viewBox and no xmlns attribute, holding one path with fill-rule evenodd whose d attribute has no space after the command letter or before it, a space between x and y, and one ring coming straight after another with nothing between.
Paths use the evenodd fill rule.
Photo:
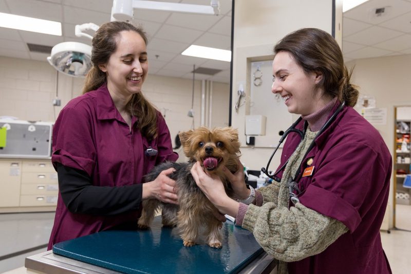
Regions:
<instances>
[{"instance_id":1,"label":"maroon short-sleeved scrub top on woman with black undersleeves","mask_svg":"<svg viewBox=\"0 0 411 274\"><path fill-rule=\"evenodd\" d=\"M104 84L72 99L62 109L53 128L51 161L87 172L94 186L142 184L143 176L155 165L178 158L160 113L157 126L158 136L152 141L141 135L136 117L130 131ZM158 154L145 155L149 147ZM136 199L141 199L141 192L139 195ZM113 216L71 213L59 193L48 249L55 243L114 227L134 228L140 214L141 208Z\"/></svg>"}]
</instances>

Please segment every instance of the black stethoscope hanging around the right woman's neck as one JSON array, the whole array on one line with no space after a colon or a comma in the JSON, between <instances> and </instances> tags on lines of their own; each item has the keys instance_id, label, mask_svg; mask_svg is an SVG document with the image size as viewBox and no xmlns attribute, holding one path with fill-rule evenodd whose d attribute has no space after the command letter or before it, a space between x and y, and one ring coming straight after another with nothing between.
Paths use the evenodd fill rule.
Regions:
<instances>
[{"instance_id":1,"label":"black stethoscope hanging around the right woman's neck","mask_svg":"<svg viewBox=\"0 0 411 274\"><path fill-rule=\"evenodd\" d=\"M305 159L305 157L307 156L307 154L310 152L310 150L314 147L315 145L315 140L318 136L320 136L326 129L328 129L328 127L330 126L330 124L332 123L332 121L334 121L335 117L337 117L337 115L341 112L341 110L343 109L345 105L345 101L342 102L340 104L340 106L337 108L337 110L331 115L331 117L325 122L325 124L321 127L320 131L315 135L314 140L312 140L310 146L308 147L307 152L305 153L304 157L303 157L303 161ZM283 166L281 166L281 168L279 168L274 174L270 175L268 173L268 167L270 166L271 160L275 154L275 152L278 150L279 146L283 143L283 141L285 140L285 138L287 137L288 134L290 134L291 132L295 132L298 135L300 135L301 140L300 142L298 142L298 145L300 145L300 143L303 141L305 133L307 131L307 127L308 127L308 122L305 121L304 123L304 130L298 130L295 128L295 126L300 123L300 121L303 118L300 117L298 118L283 134L283 136L279 139L277 147L274 149L274 152L271 154L270 159L268 160L267 163L267 167L266 168L261 168L261 171L263 171L269 178L273 179L274 181L280 182L281 178L276 177L276 175L283 171L285 169L285 167L287 166L287 163L289 161L289 159L284 163ZM297 147L298 147L297 145ZM296 147L296 148L297 148ZM300 163L300 166L298 166L297 171L295 172L295 176L294 177L290 177L287 181L287 187L289 190L289 197L291 202L295 205L296 203L300 202L300 199L298 199L298 194L301 193L300 189L298 189L297 185L298 185L298 181L300 181L301 177L300 177L300 173L301 173L301 168L303 165L303 161ZM294 191L296 191L298 194L295 194Z\"/></svg>"}]
</instances>

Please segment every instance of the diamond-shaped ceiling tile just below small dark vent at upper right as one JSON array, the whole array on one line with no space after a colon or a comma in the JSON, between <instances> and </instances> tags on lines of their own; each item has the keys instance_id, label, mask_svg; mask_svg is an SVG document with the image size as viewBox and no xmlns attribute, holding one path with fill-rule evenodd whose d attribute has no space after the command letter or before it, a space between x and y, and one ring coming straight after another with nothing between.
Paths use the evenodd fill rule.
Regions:
<instances>
[{"instance_id":1,"label":"diamond-shaped ceiling tile just below small dark vent at upper right","mask_svg":"<svg viewBox=\"0 0 411 274\"><path fill-rule=\"evenodd\" d=\"M399 31L373 26L357 33L351 34L344 39L348 42L370 46L394 38L396 36L400 36L401 34L403 33Z\"/></svg>"}]
</instances>

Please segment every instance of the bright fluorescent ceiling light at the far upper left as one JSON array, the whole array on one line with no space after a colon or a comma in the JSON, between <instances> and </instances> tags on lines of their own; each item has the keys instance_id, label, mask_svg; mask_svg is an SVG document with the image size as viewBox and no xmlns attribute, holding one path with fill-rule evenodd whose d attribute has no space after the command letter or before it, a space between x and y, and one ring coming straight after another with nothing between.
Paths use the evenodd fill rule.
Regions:
<instances>
[{"instance_id":1,"label":"bright fluorescent ceiling light at the far upper left","mask_svg":"<svg viewBox=\"0 0 411 274\"><path fill-rule=\"evenodd\" d=\"M0 27L61 36L61 23L0 12Z\"/></svg>"}]
</instances>

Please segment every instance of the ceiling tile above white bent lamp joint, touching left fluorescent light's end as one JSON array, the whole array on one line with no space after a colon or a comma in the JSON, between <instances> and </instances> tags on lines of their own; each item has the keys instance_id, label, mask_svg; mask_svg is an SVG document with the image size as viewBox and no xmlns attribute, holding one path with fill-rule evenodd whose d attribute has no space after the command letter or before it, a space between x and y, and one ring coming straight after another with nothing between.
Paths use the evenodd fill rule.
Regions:
<instances>
[{"instance_id":1,"label":"ceiling tile above white bent lamp joint, touching left fluorescent light's end","mask_svg":"<svg viewBox=\"0 0 411 274\"><path fill-rule=\"evenodd\" d=\"M84 23L92 22L96 25L101 25L105 22L110 21L110 13L108 10L107 13L85 10L81 8L74 8L70 6L63 7L65 23L71 23L74 25L81 25Z\"/></svg>"}]
</instances>

